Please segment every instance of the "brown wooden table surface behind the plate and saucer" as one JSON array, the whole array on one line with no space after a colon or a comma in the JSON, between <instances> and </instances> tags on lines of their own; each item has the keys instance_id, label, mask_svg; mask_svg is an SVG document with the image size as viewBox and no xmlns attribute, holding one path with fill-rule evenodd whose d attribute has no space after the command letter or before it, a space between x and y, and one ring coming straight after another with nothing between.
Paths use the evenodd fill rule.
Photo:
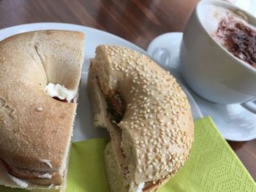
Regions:
<instances>
[{"instance_id":1,"label":"brown wooden table surface behind the plate and saucer","mask_svg":"<svg viewBox=\"0 0 256 192\"><path fill-rule=\"evenodd\" d=\"M183 31L197 0L0 0L0 28L62 22L99 28L144 49L154 37ZM256 139L228 142L256 180Z\"/></svg>"}]
</instances>

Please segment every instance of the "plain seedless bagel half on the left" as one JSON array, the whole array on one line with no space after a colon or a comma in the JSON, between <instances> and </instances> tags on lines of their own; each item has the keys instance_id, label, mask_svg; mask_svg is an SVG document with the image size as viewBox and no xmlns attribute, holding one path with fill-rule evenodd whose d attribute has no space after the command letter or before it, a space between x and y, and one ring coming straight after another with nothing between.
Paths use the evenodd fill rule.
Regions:
<instances>
[{"instance_id":1,"label":"plain seedless bagel half on the left","mask_svg":"<svg viewBox=\"0 0 256 192\"><path fill-rule=\"evenodd\" d=\"M33 31L0 42L0 185L64 191L77 107L45 92L78 93L84 35Z\"/></svg>"}]
</instances>

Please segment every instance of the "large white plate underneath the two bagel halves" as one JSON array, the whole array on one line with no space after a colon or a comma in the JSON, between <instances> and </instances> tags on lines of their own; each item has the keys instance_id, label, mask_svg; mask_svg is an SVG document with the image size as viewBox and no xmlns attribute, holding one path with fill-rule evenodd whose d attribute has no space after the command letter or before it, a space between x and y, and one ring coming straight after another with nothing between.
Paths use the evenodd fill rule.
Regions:
<instances>
[{"instance_id":1,"label":"large white plate underneath the two bagel halves","mask_svg":"<svg viewBox=\"0 0 256 192\"><path fill-rule=\"evenodd\" d=\"M73 142L92 139L97 137L107 137L108 133L104 129L93 128L93 116L91 113L91 107L89 98L86 91L87 74L89 67L89 59L94 58L94 51L98 45L109 44L129 47L133 50L138 50L140 53L147 54L140 47L121 39L113 34L109 34L105 31L99 31L95 28L89 28L86 26L78 26L67 23L31 23L20 26L12 26L10 28L3 28L0 30L0 40L12 36L13 34L19 34L27 31L37 31L45 29L63 29L71 31L82 31L86 34L85 42L85 64L83 65L83 74L80 84L79 100L78 100L78 112L75 119L75 131ZM186 91L187 92L187 91ZM192 114L194 118L203 117L197 104L187 92L187 97L192 106Z\"/></svg>"}]
</instances>

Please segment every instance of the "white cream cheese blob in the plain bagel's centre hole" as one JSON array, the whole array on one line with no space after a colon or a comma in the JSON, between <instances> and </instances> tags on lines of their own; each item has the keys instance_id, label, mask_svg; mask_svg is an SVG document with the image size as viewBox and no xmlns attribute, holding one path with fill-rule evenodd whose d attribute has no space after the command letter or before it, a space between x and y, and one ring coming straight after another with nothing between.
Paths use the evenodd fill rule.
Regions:
<instances>
[{"instance_id":1,"label":"white cream cheese blob in the plain bagel's centre hole","mask_svg":"<svg viewBox=\"0 0 256 192\"><path fill-rule=\"evenodd\" d=\"M76 96L76 91L65 88L64 85L53 84L49 82L45 87L45 92L51 97L58 97L61 100L67 100L70 102Z\"/></svg>"}]
</instances>

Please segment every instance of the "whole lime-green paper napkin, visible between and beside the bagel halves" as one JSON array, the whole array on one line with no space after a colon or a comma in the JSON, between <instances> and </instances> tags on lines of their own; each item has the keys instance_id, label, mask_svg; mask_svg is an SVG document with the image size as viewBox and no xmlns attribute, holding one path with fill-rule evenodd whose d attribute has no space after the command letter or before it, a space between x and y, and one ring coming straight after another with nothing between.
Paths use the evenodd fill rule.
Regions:
<instances>
[{"instance_id":1,"label":"whole lime-green paper napkin, visible between and beside the bagel halves","mask_svg":"<svg viewBox=\"0 0 256 192\"><path fill-rule=\"evenodd\" d=\"M67 192L109 192L104 167L105 139L72 144ZM21 192L0 187L1 192ZM189 161L159 189L170 191L256 191L255 181L219 134L211 118L195 121L195 142Z\"/></svg>"}]
</instances>

